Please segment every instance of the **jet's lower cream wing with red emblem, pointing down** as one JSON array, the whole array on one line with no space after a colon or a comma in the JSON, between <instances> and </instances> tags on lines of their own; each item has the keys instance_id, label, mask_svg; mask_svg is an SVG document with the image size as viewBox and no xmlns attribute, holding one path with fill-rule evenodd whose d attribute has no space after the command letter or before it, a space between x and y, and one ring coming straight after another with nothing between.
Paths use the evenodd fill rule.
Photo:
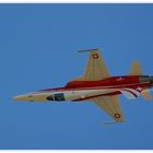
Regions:
<instances>
[{"instance_id":1,"label":"jet's lower cream wing with red emblem, pointing down","mask_svg":"<svg viewBox=\"0 0 153 153\"><path fill-rule=\"evenodd\" d=\"M117 96L99 96L91 98L101 109L108 114L115 122L122 122L122 111Z\"/></svg>"}]
</instances>

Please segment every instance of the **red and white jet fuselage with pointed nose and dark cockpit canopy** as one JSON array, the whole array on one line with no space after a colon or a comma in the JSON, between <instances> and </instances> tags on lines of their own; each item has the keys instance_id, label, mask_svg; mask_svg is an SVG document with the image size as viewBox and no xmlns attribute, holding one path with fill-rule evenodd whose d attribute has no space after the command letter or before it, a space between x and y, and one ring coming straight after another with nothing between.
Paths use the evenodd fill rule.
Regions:
<instances>
[{"instance_id":1,"label":"red and white jet fuselage with pointed nose and dark cockpit canopy","mask_svg":"<svg viewBox=\"0 0 153 153\"><path fill-rule=\"evenodd\" d=\"M152 86L153 76L122 75L98 81L71 81L64 87L40 90L13 98L30 102L75 102L98 96L119 95L125 92L129 93L129 97L134 98L139 92Z\"/></svg>"}]
</instances>

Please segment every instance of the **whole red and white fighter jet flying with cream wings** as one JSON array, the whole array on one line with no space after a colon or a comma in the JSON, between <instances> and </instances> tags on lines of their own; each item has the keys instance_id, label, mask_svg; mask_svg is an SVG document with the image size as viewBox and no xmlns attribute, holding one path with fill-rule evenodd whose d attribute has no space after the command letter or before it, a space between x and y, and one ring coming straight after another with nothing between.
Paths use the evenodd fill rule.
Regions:
<instances>
[{"instance_id":1,"label":"whole red and white fighter jet flying with cream wings","mask_svg":"<svg viewBox=\"0 0 153 153\"><path fill-rule=\"evenodd\" d=\"M30 102L79 102L89 101L99 106L114 122L122 122L123 116L118 102L122 94L128 99L142 95L151 99L149 90L153 86L153 76L142 75L140 64L133 61L128 75L109 76L98 49L83 50L90 52L84 73L58 89L40 90L14 96L15 101Z\"/></svg>"}]
</instances>

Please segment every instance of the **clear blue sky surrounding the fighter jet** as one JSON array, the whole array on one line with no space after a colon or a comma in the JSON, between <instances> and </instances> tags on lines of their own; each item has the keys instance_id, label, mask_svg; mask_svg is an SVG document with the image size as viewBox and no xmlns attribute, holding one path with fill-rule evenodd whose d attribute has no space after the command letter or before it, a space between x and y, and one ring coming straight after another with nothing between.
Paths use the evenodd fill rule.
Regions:
<instances>
[{"instance_id":1,"label":"clear blue sky surrounding the fighter jet","mask_svg":"<svg viewBox=\"0 0 153 153\"><path fill-rule=\"evenodd\" d=\"M153 4L0 4L0 149L153 149L153 101L119 96L125 123L86 103L13 102L82 74L104 48L111 75L153 74Z\"/></svg>"}]
</instances>

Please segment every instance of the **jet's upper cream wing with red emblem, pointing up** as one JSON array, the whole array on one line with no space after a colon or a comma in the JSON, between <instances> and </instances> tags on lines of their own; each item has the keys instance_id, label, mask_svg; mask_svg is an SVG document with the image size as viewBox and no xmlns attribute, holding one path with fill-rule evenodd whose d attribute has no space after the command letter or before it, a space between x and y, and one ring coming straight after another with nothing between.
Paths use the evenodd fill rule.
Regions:
<instances>
[{"instance_id":1,"label":"jet's upper cream wing with red emblem, pointing up","mask_svg":"<svg viewBox=\"0 0 153 153\"><path fill-rule=\"evenodd\" d=\"M109 76L105 63L98 49L85 50L89 51L89 59L83 73L83 79L87 81L102 80ZM82 52L82 51L80 51Z\"/></svg>"}]
</instances>

